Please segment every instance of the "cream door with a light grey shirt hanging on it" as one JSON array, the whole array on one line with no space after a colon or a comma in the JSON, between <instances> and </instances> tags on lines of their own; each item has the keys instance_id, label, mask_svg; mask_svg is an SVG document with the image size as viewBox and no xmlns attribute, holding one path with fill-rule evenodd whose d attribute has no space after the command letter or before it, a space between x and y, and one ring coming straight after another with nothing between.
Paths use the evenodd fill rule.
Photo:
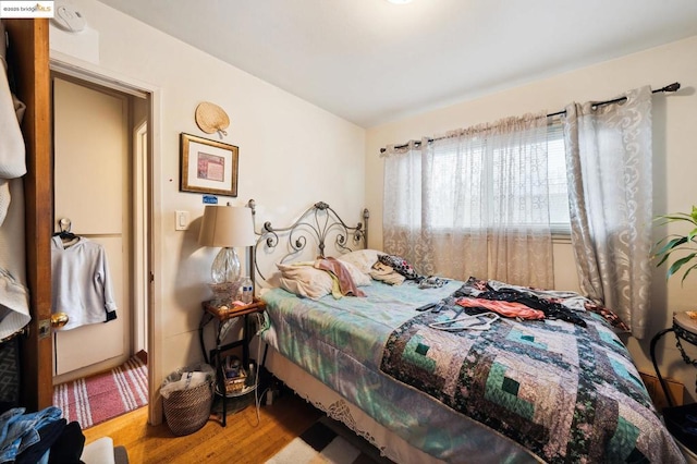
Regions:
<instances>
[{"instance_id":1,"label":"cream door with a light grey shirt hanging on it","mask_svg":"<svg viewBox=\"0 0 697 464\"><path fill-rule=\"evenodd\" d=\"M105 247L118 305L115 320L54 332L58 383L131 354L129 99L54 77L53 124L54 220Z\"/></svg>"}]
</instances>

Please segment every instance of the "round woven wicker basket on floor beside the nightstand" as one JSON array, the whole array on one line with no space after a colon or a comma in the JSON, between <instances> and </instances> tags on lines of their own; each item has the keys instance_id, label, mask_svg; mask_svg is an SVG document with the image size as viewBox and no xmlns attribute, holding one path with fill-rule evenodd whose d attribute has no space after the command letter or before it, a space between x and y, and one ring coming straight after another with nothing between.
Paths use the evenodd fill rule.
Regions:
<instances>
[{"instance_id":1,"label":"round woven wicker basket on floor beside the nightstand","mask_svg":"<svg viewBox=\"0 0 697 464\"><path fill-rule=\"evenodd\" d=\"M163 398L164 419L172 434L181 437L200 429L210 417L213 401L212 382L173 391Z\"/></svg>"}]
</instances>

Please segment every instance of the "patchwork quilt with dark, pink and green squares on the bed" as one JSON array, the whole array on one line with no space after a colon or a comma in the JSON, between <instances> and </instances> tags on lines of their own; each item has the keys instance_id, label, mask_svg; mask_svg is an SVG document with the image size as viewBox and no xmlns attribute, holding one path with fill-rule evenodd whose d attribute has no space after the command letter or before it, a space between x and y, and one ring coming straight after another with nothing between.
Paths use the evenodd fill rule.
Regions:
<instances>
[{"instance_id":1,"label":"patchwork quilt with dark, pink and green squares on the bed","mask_svg":"<svg viewBox=\"0 0 697 464\"><path fill-rule=\"evenodd\" d=\"M585 328L504 318L489 330L430 327L449 313L423 313L394 330L381 370L550 463L682 460L600 316L579 312Z\"/></svg>"}]
</instances>

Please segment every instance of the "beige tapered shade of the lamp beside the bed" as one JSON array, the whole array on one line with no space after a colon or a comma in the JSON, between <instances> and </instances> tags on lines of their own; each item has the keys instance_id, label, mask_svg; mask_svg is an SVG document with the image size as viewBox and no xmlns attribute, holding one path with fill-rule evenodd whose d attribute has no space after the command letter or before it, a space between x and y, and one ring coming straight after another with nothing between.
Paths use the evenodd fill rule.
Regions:
<instances>
[{"instance_id":1,"label":"beige tapered shade of the lamp beside the bed","mask_svg":"<svg viewBox=\"0 0 697 464\"><path fill-rule=\"evenodd\" d=\"M252 209L206 205L198 243L204 246L252 246L256 242Z\"/></svg>"}]
</instances>

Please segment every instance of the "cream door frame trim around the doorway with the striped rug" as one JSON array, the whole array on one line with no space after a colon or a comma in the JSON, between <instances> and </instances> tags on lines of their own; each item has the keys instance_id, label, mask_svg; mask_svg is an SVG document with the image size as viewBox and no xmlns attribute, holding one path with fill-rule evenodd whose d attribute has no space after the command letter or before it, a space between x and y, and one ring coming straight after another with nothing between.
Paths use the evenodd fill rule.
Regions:
<instances>
[{"instance_id":1,"label":"cream door frame trim around the doorway with the striped rug","mask_svg":"<svg viewBox=\"0 0 697 464\"><path fill-rule=\"evenodd\" d=\"M138 217L138 221L143 224L139 231L136 230L134 239L134 249L136 252L136 269L135 276L144 276L147 281L143 284L143 293L147 295L147 346L148 346L148 423L152 425L162 422L162 403L159 400L159 379L162 378L162 367L160 355L162 353L162 330L161 330L161 308L162 290L159 281L156 279L159 272L159 262L161 262L161 244L156 237L161 236L161 228L158 221L154 220L154 211L158 210L161 204L160 198L160 180L155 172L159 172L161 166L160 160L160 102L161 89L137 80L119 75L112 71L105 70L100 66L85 63L83 61L75 62L69 56L60 52L51 52L49 66L51 71L59 72L64 75L76 77L81 81L97 84L102 87L113 88L119 91L146 97L149 102L148 121L147 121L147 158L144 162L143 196L135 195L136 202L135 213L144 215ZM137 160L136 160L137 162ZM137 169L137 168L136 168ZM140 240L142 239L142 240ZM136 285L137 288L137 285ZM143 301L143 300L140 300ZM51 353L52 354L52 353ZM50 363L50 362L49 362Z\"/></svg>"}]
</instances>

